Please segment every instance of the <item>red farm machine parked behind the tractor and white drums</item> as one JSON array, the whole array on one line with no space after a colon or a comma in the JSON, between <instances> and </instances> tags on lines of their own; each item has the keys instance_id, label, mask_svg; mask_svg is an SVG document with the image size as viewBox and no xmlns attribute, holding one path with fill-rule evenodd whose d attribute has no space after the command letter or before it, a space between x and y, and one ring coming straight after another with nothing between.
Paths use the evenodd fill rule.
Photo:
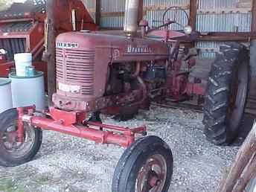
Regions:
<instances>
[{"instance_id":1,"label":"red farm machine parked behind the tractor and white drums","mask_svg":"<svg viewBox=\"0 0 256 192\"><path fill-rule=\"evenodd\" d=\"M36 70L43 71L46 78L47 63L42 61L45 31L47 33L45 5L45 0L28 0L13 3L0 12L0 77L7 77L14 70L14 54L31 52L33 65ZM57 1L54 9L57 13L57 34L97 28L80 0Z\"/></svg>"}]
</instances>

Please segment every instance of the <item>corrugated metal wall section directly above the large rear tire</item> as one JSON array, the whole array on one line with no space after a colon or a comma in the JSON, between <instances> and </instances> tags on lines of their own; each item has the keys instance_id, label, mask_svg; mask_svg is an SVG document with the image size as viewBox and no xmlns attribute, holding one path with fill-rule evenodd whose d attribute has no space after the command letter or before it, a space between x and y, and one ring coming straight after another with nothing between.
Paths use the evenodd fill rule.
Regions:
<instances>
[{"instance_id":1,"label":"corrugated metal wall section directly above the large rear tire","mask_svg":"<svg viewBox=\"0 0 256 192\"><path fill-rule=\"evenodd\" d=\"M196 30L206 32L249 32L252 8L240 7L238 0L199 0ZM215 57L224 42L197 42L201 57Z\"/></svg>"}]
</instances>

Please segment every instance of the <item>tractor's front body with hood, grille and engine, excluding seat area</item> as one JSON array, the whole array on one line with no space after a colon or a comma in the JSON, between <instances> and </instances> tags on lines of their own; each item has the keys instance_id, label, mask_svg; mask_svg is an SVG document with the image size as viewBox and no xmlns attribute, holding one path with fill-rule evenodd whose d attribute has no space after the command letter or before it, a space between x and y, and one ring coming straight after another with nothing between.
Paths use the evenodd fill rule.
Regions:
<instances>
[{"instance_id":1,"label":"tractor's front body with hood, grille and engine, excluding seat area","mask_svg":"<svg viewBox=\"0 0 256 192\"><path fill-rule=\"evenodd\" d=\"M169 48L152 39L70 32L57 37L57 94L65 110L142 103L166 80Z\"/></svg>"}]
</instances>

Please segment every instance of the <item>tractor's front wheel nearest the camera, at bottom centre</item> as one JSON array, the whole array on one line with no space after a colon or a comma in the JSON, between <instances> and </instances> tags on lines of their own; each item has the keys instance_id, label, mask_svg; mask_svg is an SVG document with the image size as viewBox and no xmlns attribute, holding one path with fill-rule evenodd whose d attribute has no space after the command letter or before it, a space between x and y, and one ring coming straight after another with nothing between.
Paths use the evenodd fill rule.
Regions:
<instances>
[{"instance_id":1,"label":"tractor's front wheel nearest the camera, at bottom centre","mask_svg":"<svg viewBox=\"0 0 256 192\"><path fill-rule=\"evenodd\" d=\"M166 192L173 175L173 154L156 136L141 138L121 156L112 192Z\"/></svg>"}]
</instances>

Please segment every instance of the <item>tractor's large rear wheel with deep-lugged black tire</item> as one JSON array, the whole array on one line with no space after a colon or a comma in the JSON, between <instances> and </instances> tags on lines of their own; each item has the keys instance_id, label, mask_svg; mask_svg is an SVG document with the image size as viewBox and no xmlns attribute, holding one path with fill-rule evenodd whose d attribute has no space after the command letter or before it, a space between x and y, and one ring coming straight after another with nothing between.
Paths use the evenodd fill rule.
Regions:
<instances>
[{"instance_id":1,"label":"tractor's large rear wheel with deep-lugged black tire","mask_svg":"<svg viewBox=\"0 0 256 192\"><path fill-rule=\"evenodd\" d=\"M205 92L204 120L208 141L231 144L237 137L249 90L249 51L238 43L220 47Z\"/></svg>"}]
</instances>

